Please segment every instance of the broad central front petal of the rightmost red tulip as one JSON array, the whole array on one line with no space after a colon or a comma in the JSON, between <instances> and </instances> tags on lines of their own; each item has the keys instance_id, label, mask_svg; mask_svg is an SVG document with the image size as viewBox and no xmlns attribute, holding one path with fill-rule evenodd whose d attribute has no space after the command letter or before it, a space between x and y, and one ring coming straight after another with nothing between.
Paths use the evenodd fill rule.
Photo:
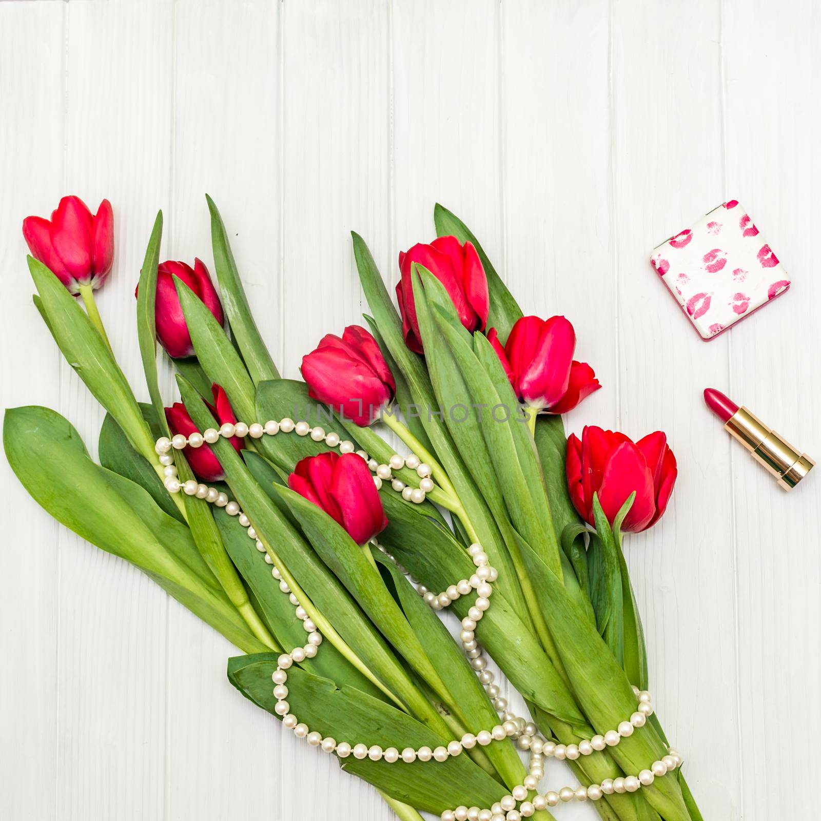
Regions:
<instances>
[{"instance_id":1,"label":"broad central front petal of the rightmost red tulip","mask_svg":"<svg viewBox=\"0 0 821 821\"><path fill-rule=\"evenodd\" d=\"M621 506L635 491L635 500L621 530L637 533L644 530L656 511L653 475L644 455L634 443L622 442L608 457L599 486L599 503L612 523Z\"/></svg>"}]
</instances>

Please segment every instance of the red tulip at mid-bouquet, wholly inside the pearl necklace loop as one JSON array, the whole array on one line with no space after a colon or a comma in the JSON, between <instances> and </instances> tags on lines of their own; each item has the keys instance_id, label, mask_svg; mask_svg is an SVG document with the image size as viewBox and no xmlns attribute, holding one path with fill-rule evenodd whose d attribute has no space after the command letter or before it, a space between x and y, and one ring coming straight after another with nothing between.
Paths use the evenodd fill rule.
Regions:
<instances>
[{"instance_id":1,"label":"red tulip at mid-bouquet, wholly inside the pearl necklace loop","mask_svg":"<svg viewBox=\"0 0 821 821\"><path fill-rule=\"evenodd\" d=\"M388 527L374 477L355 453L302 459L288 477L288 487L321 507L356 544L369 542Z\"/></svg>"}]
</instances>

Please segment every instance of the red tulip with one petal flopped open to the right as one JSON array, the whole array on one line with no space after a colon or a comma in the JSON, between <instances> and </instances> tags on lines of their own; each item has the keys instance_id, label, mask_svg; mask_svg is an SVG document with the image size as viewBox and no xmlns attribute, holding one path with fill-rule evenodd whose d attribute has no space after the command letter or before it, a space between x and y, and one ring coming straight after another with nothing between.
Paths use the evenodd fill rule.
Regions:
<instances>
[{"instance_id":1,"label":"red tulip with one petal flopped open to the right","mask_svg":"<svg viewBox=\"0 0 821 821\"><path fill-rule=\"evenodd\" d=\"M560 414L575 408L602 386L586 362L576 362L576 332L563 316L516 320L502 347L496 328L488 341L502 360L519 400L530 407Z\"/></svg>"}]
</instances>

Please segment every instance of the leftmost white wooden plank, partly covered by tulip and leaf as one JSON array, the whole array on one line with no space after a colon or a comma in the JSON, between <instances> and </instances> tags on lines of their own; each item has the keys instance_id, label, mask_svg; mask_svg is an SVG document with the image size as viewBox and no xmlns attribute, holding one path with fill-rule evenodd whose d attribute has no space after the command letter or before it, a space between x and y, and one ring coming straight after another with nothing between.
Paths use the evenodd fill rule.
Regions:
<instances>
[{"instance_id":1,"label":"leftmost white wooden plank, partly covered by tulip and leaf","mask_svg":"<svg viewBox=\"0 0 821 821\"><path fill-rule=\"evenodd\" d=\"M48 216L62 194L62 44L66 7L0 6L0 365L3 405L58 406L62 358L31 302L21 232L27 214ZM37 92L34 93L34 89ZM32 374L32 364L37 372ZM0 467L0 790L2 818L55 819L57 807L57 591L62 527L31 499L5 459Z\"/></svg>"}]
</instances>

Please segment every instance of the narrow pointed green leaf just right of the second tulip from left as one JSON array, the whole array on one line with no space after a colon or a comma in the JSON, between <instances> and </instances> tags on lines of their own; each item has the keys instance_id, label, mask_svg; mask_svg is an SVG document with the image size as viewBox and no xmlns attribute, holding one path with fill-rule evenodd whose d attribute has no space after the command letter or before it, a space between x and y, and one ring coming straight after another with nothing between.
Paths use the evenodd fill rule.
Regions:
<instances>
[{"instance_id":1,"label":"narrow pointed green leaf just right of the second tulip from left","mask_svg":"<svg viewBox=\"0 0 821 821\"><path fill-rule=\"evenodd\" d=\"M267 379L278 379L277 366L273 364L273 359L251 314L222 217L209 195L206 194L205 199L208 200L211 214L213 264L219 282L222 307L231 325L232 336L239 346L242 359L255 385Z\"/></svg>"}]
</instances>

